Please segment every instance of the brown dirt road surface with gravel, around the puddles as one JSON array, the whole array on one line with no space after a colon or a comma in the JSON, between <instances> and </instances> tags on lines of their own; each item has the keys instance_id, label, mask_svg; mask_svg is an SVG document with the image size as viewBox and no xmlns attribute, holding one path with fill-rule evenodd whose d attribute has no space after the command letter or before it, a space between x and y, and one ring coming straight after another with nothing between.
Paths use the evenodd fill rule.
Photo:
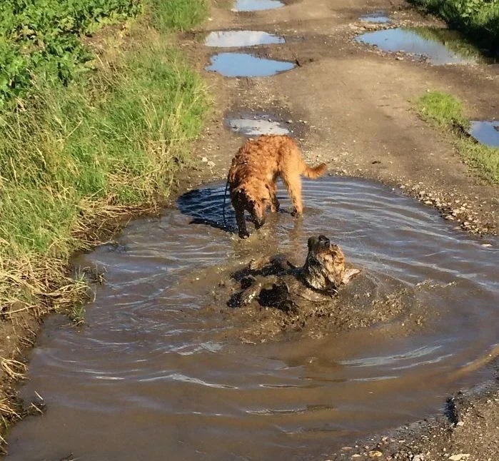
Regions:
<instances>
[{"instance_id":1,"label":"brown dirt road surface with gravel, around the puddles","mask_svg":"<svg viewBox=\"0 0 499 461\"><path fill-rule=\"evenodd\" d=\"M243 139L224 128L226 113L265 112L291 129L309 160L328 162L331 173L401 186L456 226L497 233L498 188L480 181L448 138L411 111L410 101L425 91L445 91L464 101L468 118L494 118L499 108L498 65L432 66L353 40L371 27L359 16L375 10L388 14L392 26L442 26L399 0L291 0L281 9L251 13L230 11L228 3L216 2L205 29L185 37L184 49L200 71L212 54L227 51L203 46L206 32L232 29L283 36L284 44L257 46L250 52L291 61L296 68L262 78L204 72L216 111L198 145L202 168L186 178L189 183L226 177ZM463 206L463 213L450 218L456 204ZM497 383L487 392L460 395L456 401L460 405L451 405L453 417L419 422L393 437L376 435L331 454L331 459L498 459ZM457 457L449 458L453 455Z\"/></svg>"}]
</instances>

